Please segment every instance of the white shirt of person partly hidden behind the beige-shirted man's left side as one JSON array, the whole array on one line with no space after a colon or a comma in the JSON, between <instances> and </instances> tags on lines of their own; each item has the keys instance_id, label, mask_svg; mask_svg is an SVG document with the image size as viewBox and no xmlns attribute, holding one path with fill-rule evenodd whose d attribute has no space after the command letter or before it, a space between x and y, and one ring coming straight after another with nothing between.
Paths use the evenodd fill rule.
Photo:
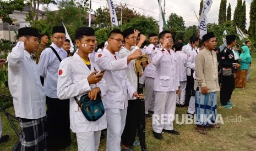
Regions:
<instances>
[{"instance_id":1,"label":"white shirt of person partly hidden behind the beige-shirted man's left side","mask_svg":"<svg viewBox=\"0 0 256 151\"><path fill-rule=\"evenodd\" d=\"M195 57L199 53L199 49L194 50L189 54L188 61L187 61L187 75L191 76L191 69L195 70ZM196 79L195 77L195 72L193 73L193 78Z\"/></svg>"}]
</instances>

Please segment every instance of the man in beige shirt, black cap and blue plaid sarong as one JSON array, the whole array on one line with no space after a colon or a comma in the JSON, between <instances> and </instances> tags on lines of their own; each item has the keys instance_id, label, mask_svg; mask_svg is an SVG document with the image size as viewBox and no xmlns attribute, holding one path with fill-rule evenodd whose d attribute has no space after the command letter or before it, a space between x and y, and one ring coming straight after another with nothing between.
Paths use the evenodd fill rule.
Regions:
<instances>
[{"instance_id":1,"label":"man in beige shirt, black cap and blue plaid sarong","mask_svg":"<svg viewBox=\"0 0 256 151\"><path fill-rule=\"evenodd\" d=\"M204 49L195 57L195 114L197 131L206 135L205 127L217 125L217 91L220 91L217 57L214 51L217 43L213 32L203 36Z\"/></svg>"}]
</instances>

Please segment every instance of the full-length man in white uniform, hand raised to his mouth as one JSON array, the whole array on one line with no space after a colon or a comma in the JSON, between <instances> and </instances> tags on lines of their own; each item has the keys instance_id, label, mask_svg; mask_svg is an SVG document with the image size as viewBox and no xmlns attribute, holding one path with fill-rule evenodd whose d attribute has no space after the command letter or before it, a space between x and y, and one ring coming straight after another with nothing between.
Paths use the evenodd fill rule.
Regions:
<instances>
[{"instance_id":1,"label":"full-length man in white uniform, hand raised to his mouth","mask_svg":"<svg viewBox=\"0 0 256 151\"><path fill-rule=\"evenodd\" d=\"M152 59L156 67L154 80L155 107L152 118L153 135L161 139L162 131L179 135L173 129L175 119L176 97L179 92L179 77L177 68L177 58L171 49L172 34L170 31L162 31L159 34L162 48L155 52ZM161 118L167 118L167 124L161 123Z\"/></svg>"}]
</instances>

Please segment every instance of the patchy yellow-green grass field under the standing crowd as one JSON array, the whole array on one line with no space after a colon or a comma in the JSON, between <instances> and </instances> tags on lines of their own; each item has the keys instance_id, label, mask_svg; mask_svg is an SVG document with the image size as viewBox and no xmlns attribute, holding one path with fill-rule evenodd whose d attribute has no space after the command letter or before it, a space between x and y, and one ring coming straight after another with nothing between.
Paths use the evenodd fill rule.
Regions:
<instances>
[{"instance_id":1,"label":"patchy yellow-green grass field under the standing crowd","mask_svg":"<svg viewBox=\"0 0 256 151\"><path fill-rule=\"evenodd\" d=\"M231 101L236 104L232 109L220 108L218 94L218 114L221 114L224 124L220 129L209 129L208 135L201 135L194 125L174 124L175 130L181 135L173 136L164 133L163 140L156 140L152 135L152 122L146 119L146 144L148 150L256 150L256 55L253 54L250 78L246 89L235 89ZM9 94L7 89L1 89L1 94ZM10 108L13 113L14 109ZM185 114L187 108L177 108L176 114ZM6 116L1 113L3 135L10 135L6 143L0 144L0 150L11 150L18 141L14 130ZM19 127L18 123L15 125ZM140 147L133 147L140 150ZM77 150L75 134L72 133L72 144L66 150ZM106 138L101 140L99 150L106 150ZM113 150L115 151L115 150Z\"/></svg>"}]
</instances>

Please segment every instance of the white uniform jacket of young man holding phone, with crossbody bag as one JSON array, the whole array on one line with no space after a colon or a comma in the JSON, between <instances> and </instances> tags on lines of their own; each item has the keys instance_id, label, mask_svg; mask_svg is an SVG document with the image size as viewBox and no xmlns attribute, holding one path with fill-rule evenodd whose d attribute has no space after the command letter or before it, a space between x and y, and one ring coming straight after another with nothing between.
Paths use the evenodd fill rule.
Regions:
<instances>
[{"instance_id":1,"label":"white uniform jacket of young man holding phone, with crossbody bag","mask_svg":"<svg viewBox=\"0 0 256 151\"><path fill-rule=\"evenodd\" d=\"M108 88L104 79L101 79L97 84L88 83L87 78L94 72L94 68L99 71L97 73L99 74L100 69L94 62L91 62L89 69L77 53L64 59L59 65L57 95L62 100L70 98L70 129L75 133L100 131L107 127L106 114L102 115L99 120L88 121L74 99L76 97L79 100L81 96L88 94L96 86L100 88L101 96L106 96Z\"/></svg>"}]
</instances>

